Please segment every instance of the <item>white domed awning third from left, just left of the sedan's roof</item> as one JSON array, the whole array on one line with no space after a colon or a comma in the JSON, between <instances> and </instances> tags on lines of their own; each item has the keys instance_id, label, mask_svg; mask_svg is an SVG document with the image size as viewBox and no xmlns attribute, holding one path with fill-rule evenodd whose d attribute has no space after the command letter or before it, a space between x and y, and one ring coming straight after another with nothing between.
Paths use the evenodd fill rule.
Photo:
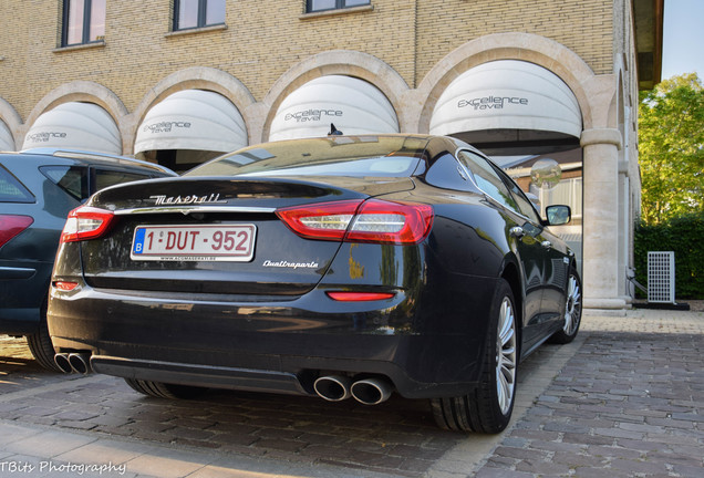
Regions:
<instances>
[{"instance_id":1,"label":"white domed awning third from left, just left of the sedan's roof","mask_svg":"<svg viewBox=\"0 0 704 478\"><path fill-rule=\"evenodd\" d=\"M137 129L134 153L195 149L228 153L247 146L242 115L225 96L184 90L154 105Z\"/></svg>"}]
</instances>

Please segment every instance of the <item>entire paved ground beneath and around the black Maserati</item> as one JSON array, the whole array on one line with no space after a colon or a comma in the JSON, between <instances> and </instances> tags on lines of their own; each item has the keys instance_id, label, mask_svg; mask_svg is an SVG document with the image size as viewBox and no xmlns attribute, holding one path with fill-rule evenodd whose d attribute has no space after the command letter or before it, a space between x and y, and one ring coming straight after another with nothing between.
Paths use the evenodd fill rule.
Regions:
<instances>
[{"instance_id":1,"label":"entire paved ground beneath and around the black Maserati","mask_svg":"<svg viewBox=\"0 0 704 478\"><path fill-rule=\"evenodd\" d=\"M704 313L587 315L578 340L519 367L497 436L435 427L425 402L213 392L143 397L102 375L41 370L0 340L0 476L702 477ZM41 468L41 465L45 465ZM53 468L51 465L53 465Z\"/></svg>"}]
</instances>

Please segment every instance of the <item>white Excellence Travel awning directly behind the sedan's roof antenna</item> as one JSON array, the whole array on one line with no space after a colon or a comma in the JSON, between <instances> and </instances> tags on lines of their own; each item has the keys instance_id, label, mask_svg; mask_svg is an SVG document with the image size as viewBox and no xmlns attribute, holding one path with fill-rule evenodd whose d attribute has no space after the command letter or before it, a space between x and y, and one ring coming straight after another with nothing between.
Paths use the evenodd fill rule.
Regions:
<instances>
[{"instance_id":1,"label":"white Excellence Travel awning directly behind the sedan's roof antenna","mask_svg":"<svg viewBox=\"0 0 704 478\"><path fill-rule=\"evenodd\" d=\"M329 75L306 83L281 102L269 141L325 136L331 123L345 135L398 133L396 112L376 86Z\"/></svg>"}]
</instances>

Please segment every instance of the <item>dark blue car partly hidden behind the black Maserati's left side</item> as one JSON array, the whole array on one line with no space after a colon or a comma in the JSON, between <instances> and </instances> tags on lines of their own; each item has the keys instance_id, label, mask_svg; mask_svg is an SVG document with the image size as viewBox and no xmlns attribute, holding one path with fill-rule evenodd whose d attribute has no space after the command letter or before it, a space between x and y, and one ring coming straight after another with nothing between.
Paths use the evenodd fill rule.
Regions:
<instances>
[{"instance_id":1,"label":"dark blue car partly hidden behind the black Maserati's left side","mask_svg":"<svg viewBox=\"0 0 704 478\"><path fill-rule=\"evenodd\" d=\"M55 370L46 298L69 211L104 187L163 176L175 174L95 153L0 153L0 333L25 335L38 362Z\"/></svg>"}]
</instances>

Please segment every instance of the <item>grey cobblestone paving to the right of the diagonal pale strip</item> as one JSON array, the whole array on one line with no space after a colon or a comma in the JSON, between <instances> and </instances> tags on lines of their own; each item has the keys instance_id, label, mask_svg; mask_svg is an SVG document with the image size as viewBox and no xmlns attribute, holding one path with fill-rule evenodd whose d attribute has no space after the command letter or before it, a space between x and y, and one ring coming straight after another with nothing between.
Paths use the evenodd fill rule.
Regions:
<instances>
[{"instance_id":1,"label":"grey cobblestone paving to the right of the diagonal pale strip","mask_svg":"<svg viewBox=\"0 0 704 478\"><path fill-rule=\"evenodd\" d=\"M476 476L704 476L704 314L587 316L581 335Z\"/></svg>"}]
</instances>

